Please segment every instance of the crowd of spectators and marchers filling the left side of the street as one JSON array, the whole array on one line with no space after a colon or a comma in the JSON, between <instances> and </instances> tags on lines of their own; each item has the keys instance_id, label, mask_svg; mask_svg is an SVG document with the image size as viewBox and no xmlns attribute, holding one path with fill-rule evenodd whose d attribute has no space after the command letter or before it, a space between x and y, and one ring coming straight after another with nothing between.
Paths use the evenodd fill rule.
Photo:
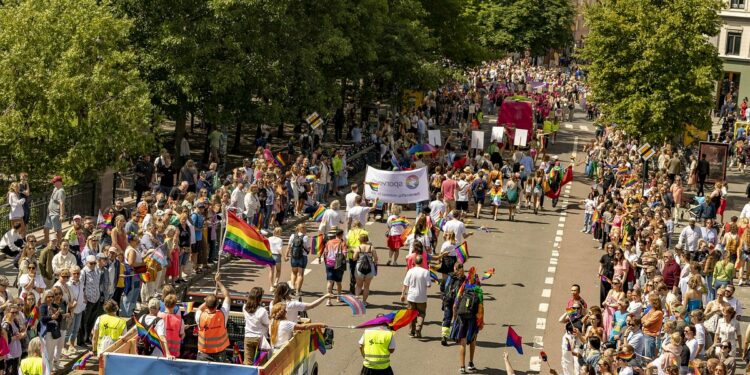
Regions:
<instances>
[{"instance_id":1,"label":"crowd of spectators and marchers filling the left side of the street","mask_svg":"<svg viewBox=\"0 0 750 375\"><path fill-rule=\"evenodd\" d=\"M323 302L337 304L335 297L342 294L346 273L349 293L366 304L378 267L398 266L399 253L406 247L401 300L418 313L409 327L410 336L421 337L428 287L439 284L442 344L458 343L460 371L473 371L476 339L483 328L483 291L479 271L457 254L473 234L466 224L472 217L498 220L501 207L507 207L509 220L537 213L544 209L545 196L556 204L555 192L564 184L566 168L545 148L554 141L552 134L543 135L547 139L533 136L527 150L513 147L507 138L490 142L484 150L470 149L471 130L480 126L484 113L497 111L505 97L518 95L531 98L539 129L547 121L559 123L572 117L576 105L586 108L580 70L543 69L523 59L508 59L470 72L466 82L429 92L411 110L378 118L374 124L351 126L364 130L368 139L363 144L375 146L383 169L429 169L431 200L418 202L414 217L405 215L407 207L366 199L363 185L349 178L353 150L325 149L322 137L311 139L317 129L301 132L299 153L294 147L274 153L260 145L231 173L221 173L214 159L201 168L189 159L189 152L181 156L180 166L166 150L153 161L143 156L134 165L135 205L118 199L96 216L70 217L63 180L55 177L44 238L39 239L41 250L36 236L25 227L25 199L30 193L22 178L9 189L13 228L0 242L3 252L15 256L18 267L18 295L10 292L7 279L0 279L4 316L0 355L5 344L6 373L17 372L22 358L36 358L37 343L58 371L66 356L80 355L82 350L100 353L125 334L126 320L135 314L141 315L137 319L146 329L155 327L164 348L146 345L139 351L180 357L186 329L180 311L185 307L177 300L175 287L192 275L211 277L207 272L218 260L228 211L263 230L276 261L268 267L272 305L268 309L260 305L264 288L257 286L243 307L246 363L257 357L255 352L283 346L294 331L323 328L322 323L299 323L299 312ZM426 141L427 130L435 129L445 135L442 147L429 155L409 153L411 146ZM351 135L362 141L361 134ZM281 228L290 220L321 209L322 217L311 231L302 224L286 241L282 238ZM71 226L63 228L68 218ZM369 220L385 222L387 256L373 247L364 226ZM296 299L303 295L304 271L319 236L324 238L319 245L323 251L316 255L325 265L328 293L302 303ZM287 262L289 283L280 280ZM218 274L215 280L227 296ZM196 308L198 359L225 360L228 304L228 298L220 302L209 296ZM387 331L368 329L360 341L363 373L391 371L389 361L375 360L395 350L392 335L378 332L383 330ZM370 336L383 339L376 341L386 348L372 346L375 341L364 339Z\"/></svg>"}]
</instances>

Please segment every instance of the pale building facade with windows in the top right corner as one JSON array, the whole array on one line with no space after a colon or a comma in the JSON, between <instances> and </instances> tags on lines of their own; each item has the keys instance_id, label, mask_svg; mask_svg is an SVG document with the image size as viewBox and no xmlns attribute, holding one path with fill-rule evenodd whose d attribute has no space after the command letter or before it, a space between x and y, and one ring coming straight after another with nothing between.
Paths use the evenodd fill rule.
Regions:
<instances>
[{"instance_id":1,"label":"pale building facade with windows in the top right corner","mask_svg":"<svg viewBox=\"0 0 750 375\"><path fill-rule=\"evenodd\" d=\"M716 110L729 97L735 104L750 97L750 0L725 0L719 35L711 38L724 62L716 88Z\"/></svg>"}]
</instances>

